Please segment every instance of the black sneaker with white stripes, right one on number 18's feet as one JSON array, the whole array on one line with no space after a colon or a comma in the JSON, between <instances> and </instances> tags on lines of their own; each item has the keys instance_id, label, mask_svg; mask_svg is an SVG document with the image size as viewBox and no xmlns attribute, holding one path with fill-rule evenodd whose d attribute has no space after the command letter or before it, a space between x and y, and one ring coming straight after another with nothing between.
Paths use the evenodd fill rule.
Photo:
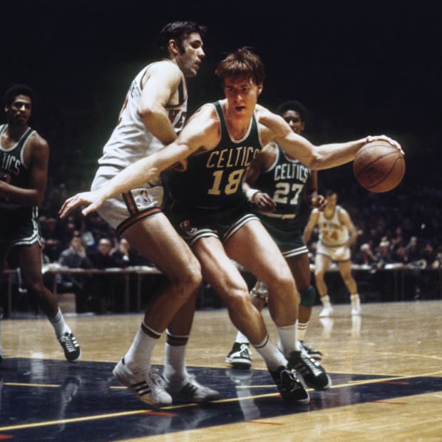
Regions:
<instances>
[{"instance_id":1,"label":"black sneaker with white stripes, right one on number 18's feet","mask_svg":"<svg viewBox=\"0 0 442 442\"><path fill-rule=\"evenodd\" d=\"M287 357L287 361L289 361L289 367L296 370L310 388L326 390L332 385L330 376L318 361L307 354L307 351L292 351Z\"/></svg>"}]
</instances>

